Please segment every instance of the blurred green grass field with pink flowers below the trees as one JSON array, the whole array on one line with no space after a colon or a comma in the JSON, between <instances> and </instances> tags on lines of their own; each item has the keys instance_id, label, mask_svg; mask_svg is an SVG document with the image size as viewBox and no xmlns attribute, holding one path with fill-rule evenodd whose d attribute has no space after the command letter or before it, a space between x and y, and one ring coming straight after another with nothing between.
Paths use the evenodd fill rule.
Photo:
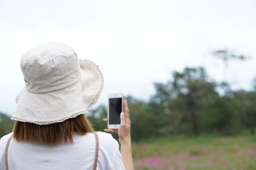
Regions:
<instances>
[{"instance_id":1,"label":"blurred green grass field with pink flowers below the trees","mask_svg":"<svg viewBox=\"0 0 256 170\"><path fill-rule=\"evenodd\" d=\"M256 136L168 136L132 146L136 169L256 169Z\"/></svg>"}]
</instances>

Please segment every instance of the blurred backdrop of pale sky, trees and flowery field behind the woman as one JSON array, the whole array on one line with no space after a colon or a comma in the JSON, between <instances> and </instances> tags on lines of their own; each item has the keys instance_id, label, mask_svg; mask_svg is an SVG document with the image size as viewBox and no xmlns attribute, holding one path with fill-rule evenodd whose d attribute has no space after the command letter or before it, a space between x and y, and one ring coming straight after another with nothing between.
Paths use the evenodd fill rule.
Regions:
<instances>
[{"instance_id":1,"label":"blurred backdrop of pale sky, trees and flowery field behind the woman","mask_svg":"<svg viewBox=\"0 0 256 170\"><path fill-rule=\"evenodd\" d=\"M0 0L0 137L24 87L19 60L58 41L131 110L136 169L256 169L256 1ZM116 138L116 136L114 135Z\"/></svg>"}]
</instances>

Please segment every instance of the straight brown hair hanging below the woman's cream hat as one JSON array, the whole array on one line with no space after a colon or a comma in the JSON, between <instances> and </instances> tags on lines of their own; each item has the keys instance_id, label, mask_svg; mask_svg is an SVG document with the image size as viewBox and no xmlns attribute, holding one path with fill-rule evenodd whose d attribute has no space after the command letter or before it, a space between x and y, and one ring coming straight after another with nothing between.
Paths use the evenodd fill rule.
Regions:
<instances>
[{"instance_id":1,"label":"straight brown hair hanging below the woman's cream hat","mask_svg":"<svg viewBox=\"0 0 256 170\"><path fill-rule=\"evenodd\" d=\"M18 142L28 141L31 143L58 145L68 142L73 143L73 132L84 135L87 132L93 132L93 128L84 115L49 125L16 121L13 127L13 138Z\"/></svg>"}]
</instances>

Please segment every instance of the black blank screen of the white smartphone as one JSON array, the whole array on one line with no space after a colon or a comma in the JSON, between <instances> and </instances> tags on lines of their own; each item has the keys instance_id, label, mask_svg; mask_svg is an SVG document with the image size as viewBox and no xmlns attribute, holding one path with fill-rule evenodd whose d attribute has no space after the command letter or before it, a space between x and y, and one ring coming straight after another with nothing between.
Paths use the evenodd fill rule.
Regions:
<instances>
[{"instance_id":1,"label":"black blank screen of the white smartphone","mask_svg":"<svg viewBox=\"0 0 256 170\"><path fill-rule=\"evenodd\" d=\"M120 124L120 113L122 112L122 97L109 98L109 124Z\"/></svg>"}]
</instances>

